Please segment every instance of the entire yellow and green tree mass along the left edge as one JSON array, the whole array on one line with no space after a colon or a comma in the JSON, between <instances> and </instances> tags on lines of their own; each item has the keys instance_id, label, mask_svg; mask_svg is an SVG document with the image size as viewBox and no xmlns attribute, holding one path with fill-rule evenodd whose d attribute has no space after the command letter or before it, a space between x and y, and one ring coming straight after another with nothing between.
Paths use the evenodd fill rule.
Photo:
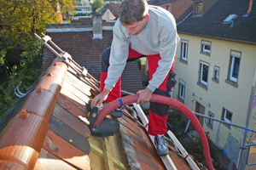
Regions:
<instances>
[{"instance_id":1,"label":"entire yellow and green tree mass along the left edge","mask_svg":"<svg viewBox=\"0 0 256 170\"><path fill-rule=\"evenodd\" d=\"M61 23L58 4L62 18L69 20L67 11L74 14L73 0L0 0L0 74L8 77L0 83L1 113L14 104L14 90L21 81L24 92L40 75L42 44L34 33L44 33L46 24ZM9 62L13 52L15 64Z\"/></svg>"}]
</instances>

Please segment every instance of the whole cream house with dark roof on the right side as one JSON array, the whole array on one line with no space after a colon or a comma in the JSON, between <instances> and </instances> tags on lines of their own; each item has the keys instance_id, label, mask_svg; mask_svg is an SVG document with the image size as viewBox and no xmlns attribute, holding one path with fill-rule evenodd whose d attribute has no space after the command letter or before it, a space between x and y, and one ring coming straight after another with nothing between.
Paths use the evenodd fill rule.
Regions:
<instances>
[{"instance_id":1,"label":"whole cream house with dark roof on the right side","mask_svg":"<svg viewBox=\"0 0 256 170\"><path fill-rule=\"evenodd\" d=\"M256 2L195 0L177 32L181 41L173 97L191 111L255 130ZM245 147L256 141L255 133L198 118L231 160L227 169L256 168L246 166L256 163L255 146Z\"/></svg>"}]
</instances>

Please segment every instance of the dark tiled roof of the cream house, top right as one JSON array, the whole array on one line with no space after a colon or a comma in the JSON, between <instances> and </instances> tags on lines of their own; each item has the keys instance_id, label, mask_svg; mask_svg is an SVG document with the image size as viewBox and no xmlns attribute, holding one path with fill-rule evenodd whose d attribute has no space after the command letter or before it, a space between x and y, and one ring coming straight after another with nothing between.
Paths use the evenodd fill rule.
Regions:
<instances>
[{"instance_id":1,"label":"dark tiled roof of the cream house, top right","mask_svg":"<svg viewBox=\"0 0 256 170\"><path fill-rule=\"evenodd\" d=\"M201 17L189 17L177 25L178 33L187 33L204 37L216 37L231 41L256 43L256 3L253 11L247 14L249 2L244 0L218 0ZM224 24L230 15L236 14L234 26Z\"/></svg>"}]
</instances>

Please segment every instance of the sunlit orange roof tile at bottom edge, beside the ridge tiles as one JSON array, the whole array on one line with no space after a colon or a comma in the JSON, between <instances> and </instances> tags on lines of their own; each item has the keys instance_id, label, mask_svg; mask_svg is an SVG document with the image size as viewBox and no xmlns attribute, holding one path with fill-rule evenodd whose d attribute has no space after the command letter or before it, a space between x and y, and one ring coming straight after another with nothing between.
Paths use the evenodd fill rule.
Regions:
<instances>
[{"instance_id":1,"label":"sunlit orange roof tile at bottom edge, beside the ridge tiles","mask_svg":"<svg viewBox=\"0 0 256 170\"><path fill-rule=\"evenodd\" d=\"M43 148L38 156L38 161L35 170L50 169L50 170L76 170L76 168L68 165L65 161L57 158L56 156L50 154L47 150Z\"/></svg>"}]
</instances>

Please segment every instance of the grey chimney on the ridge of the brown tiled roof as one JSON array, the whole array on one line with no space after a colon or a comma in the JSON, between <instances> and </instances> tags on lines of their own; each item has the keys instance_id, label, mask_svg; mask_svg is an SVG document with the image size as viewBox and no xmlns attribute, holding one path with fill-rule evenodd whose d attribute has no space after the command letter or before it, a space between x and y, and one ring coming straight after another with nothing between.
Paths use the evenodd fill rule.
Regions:
<instances>
[{"instance_id":1,"label":"grey chimney on the ridge of the brown tiled roof","mask_svg":"<svg viewBox=\"0 0 256 170\"><path fill-rule=\"evenodd\" d=\"M102 39L102 14L93 14L93 39Z\"/></svg>"}]
</instances>

